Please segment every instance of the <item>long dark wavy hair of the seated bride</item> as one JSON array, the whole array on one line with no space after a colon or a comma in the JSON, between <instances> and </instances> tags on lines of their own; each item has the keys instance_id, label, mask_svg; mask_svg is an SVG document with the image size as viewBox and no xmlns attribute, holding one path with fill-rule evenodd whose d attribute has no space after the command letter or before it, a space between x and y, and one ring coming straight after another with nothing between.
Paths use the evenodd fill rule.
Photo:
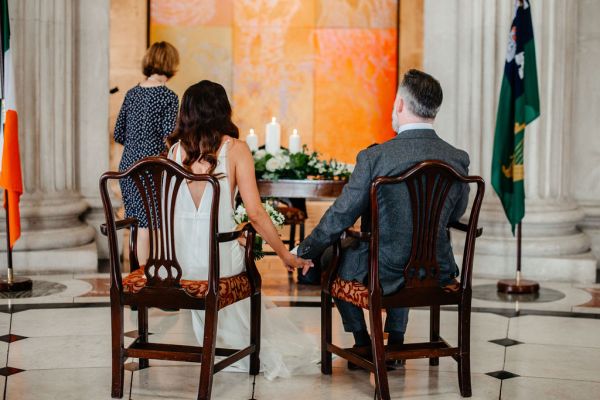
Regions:
<instances>
[{"instance_id":1,"label":"long dark wavy hair of the seated bride","mask_svg":"<svg viewBox=\"0 0 600 400\"><path fill-rule=\"evenodd\" d=\"M181 141L186 153L183 165L190 169L194 162L206 161L211 174L223 135L240 136L223 86L207 80L190 86L183 94L175 131L167 139L169 147Z\"/></svg>"}]
</instances>

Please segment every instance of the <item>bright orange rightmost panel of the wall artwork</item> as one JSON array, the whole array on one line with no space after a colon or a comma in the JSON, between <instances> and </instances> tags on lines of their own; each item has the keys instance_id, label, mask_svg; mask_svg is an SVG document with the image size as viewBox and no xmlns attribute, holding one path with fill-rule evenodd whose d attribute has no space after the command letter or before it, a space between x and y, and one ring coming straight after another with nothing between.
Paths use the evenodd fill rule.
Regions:
<instances>
[{"instance_id":1,"label":"bright orange rightmost panel of the wall artwork","mask_svg":"<svg viewBox=\"0 0 600 400\"><path fill-rule=\"evenodd\" d=\"M354 162L359 150L393 137L394 29L318 29L315 147Z\"/></svg>"}]
</instances>

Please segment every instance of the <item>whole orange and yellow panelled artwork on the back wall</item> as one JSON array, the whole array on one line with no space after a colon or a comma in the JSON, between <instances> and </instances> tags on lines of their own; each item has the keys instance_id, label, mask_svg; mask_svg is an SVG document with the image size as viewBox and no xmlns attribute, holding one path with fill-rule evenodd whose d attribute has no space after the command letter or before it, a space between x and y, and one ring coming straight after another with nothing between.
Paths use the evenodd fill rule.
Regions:
<instances>
[{"instance_id":1,"label":"whole orange and yellow panelled artwork on the back wall","mask_svg":"<svg viewBox=\"0 0 600 400\"><path fill-rule=\"evenodd\" d=\"M150 40L167 40L181 65L181 96L221 83L242 138L264 142L277 117L282 145L297 128L311 150L354 162L393 136L397 0L151 0Z\"/></svg>"}]
</instances>

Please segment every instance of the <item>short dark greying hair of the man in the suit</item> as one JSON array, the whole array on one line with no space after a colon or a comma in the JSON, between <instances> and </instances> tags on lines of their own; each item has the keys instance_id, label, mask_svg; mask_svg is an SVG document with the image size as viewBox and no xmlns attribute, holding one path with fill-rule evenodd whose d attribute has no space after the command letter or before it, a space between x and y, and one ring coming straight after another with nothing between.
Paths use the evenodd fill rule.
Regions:
<instances>
[{"instance_id":1,"label":"short dark greying hair of the man in the suit","mask_svg":"<svg viewBox=\"0 0 600 400\"><path fill-rule=\"evenodd\" d=\"M428 119L435 118L444 98L437 79L416 69L404 74L398 95L404 99L411 113Z\"/></svg>"}]
</instances>

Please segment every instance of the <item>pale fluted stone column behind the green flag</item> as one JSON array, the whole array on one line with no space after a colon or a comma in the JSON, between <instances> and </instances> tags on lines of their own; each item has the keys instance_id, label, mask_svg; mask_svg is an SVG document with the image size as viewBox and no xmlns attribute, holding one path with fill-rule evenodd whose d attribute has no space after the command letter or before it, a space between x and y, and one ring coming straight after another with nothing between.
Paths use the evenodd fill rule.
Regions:
<instances>
[{"instance_id":1,"label":"pale fluted stone column behind the green flag","mask_svg":"<svg viewBox=\"0 0 600 400\"><path fill-rule=\"evenodd\" d=\"M496 108L504 68L511 2L427 0L425 69L445 91L436 122L440 135L471 156L471 172L490 181ZM577 27L575 3L533 4L541 116L525 135L526 216L523 273L534 279L595 281L589 238L578 230L583 212L571 200L569 143ZM491 185L481 215L475 273L514 276L516 244Z\"/></svg>"}]
</instances>

